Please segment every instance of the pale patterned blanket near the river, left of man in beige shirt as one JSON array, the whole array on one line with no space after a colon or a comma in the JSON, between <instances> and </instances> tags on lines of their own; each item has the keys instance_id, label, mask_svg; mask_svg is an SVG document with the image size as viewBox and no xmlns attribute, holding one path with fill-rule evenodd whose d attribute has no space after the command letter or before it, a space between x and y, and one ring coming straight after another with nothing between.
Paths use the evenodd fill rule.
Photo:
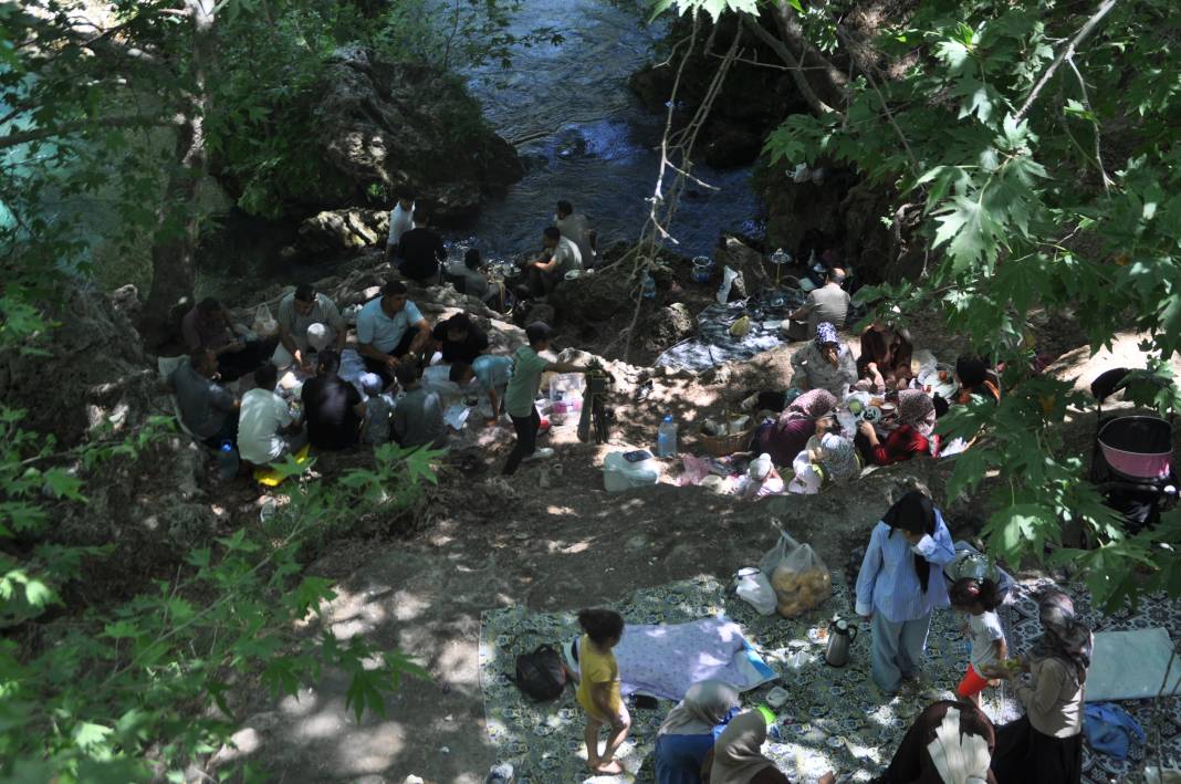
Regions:
<instances>
[{"instance_id":1,"label":"pale patterned blanket near the river, left of man in beige shirt","mask_svg":"<svg viewBox=\"0 0 1181 784\"><path fill-rule=\"evenodd\" d=\"M724 362L750 359L783 342L779 325L790 303L781 307L730 302L710 305L697 314L697 335L665 349L657 365L683 367L694 373ZM730 327L743 315L750 316L750 331L742 338L730 334Z\"/></svg>"}]
</instances>

